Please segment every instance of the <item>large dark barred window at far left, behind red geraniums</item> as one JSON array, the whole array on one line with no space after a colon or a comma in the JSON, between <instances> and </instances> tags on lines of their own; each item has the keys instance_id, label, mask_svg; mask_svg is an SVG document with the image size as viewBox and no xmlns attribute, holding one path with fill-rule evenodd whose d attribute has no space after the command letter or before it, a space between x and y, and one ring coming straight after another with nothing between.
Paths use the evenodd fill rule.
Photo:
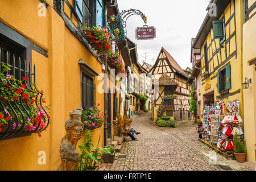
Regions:
<instances>
[{"instance_id":1,"label":"large dark barred window at far left, behind red geraniums","mask_svg":"<svg viewBox=\"0 0 256 182\"><path fill-rule=\"evenodd\" d=\"M16 80L22 80L23 77L22 87L23 89L26 88L26 91L29 92L29 94L26 94L28 96L26 99L22 98L22 96L24 97L25 94L21 96L20 93L18 94L16 92L16 94L19 96L17 96L15 100L6 100L4 97L2 97L6 94L4 92L5 89L1 87L0 113L7 114L10 118L10 122L7 122L5 125L1 126L2 131L0 132L0 140L24 137L31 135L31 133L38 133L38 131L45 130L49 125L48 117L44 117L44 119L42 119L42 123L44 122L46 124L44 128L42 125L38 125L39 122L34 123L33 129L28 129L25 125L25 123L28 122L28 118L31 118L32 120L33 116L31 115L30 111L34 111L35 107L40 107L44 110L41 102L43 93L39 92L34 85L35 65L34 73L31 72L31 45L32 43L30 40L26 39L18 32L0 22L0 71L2 71L1 68L3 65L8 65L10 71L6 71L8 73L4 73L4 75L13 75ZM32 75L34 75L33 81L31 79ZM14 81L4 82L2 78L0 81L2 82L1 85L7 85L11 89L15 89L17 86L16 84L18 84L16 81L16 84ZM32 100L31 95L33 94L36 94L36 99L33 102L36 106L33 105L32 102L28 102L28 100ZM44 110L44 113L46 113L46 110Z\"/></svg>"}]
</instances>

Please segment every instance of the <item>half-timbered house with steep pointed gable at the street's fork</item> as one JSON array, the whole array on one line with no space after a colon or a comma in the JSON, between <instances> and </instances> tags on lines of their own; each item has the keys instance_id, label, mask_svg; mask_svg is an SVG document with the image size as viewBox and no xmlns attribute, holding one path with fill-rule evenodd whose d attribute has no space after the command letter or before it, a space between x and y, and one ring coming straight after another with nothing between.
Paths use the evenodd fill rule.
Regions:
<instances>
[{"instance_id":1,"label":"half-timbered house with steep pointed gable at the street's fork","mask_svg":"<svg viewBox=\"0 0 256 182\"><path fill-rule=\"evenodd\" d=\"M166 76L177 84L177 86L175 86L175 84L171 84L170 81L167 81L168 84L160 85L159 82L159 89L156 90L156 97L152 106L152 118L154 118L154 121L162 117L166 108L170 106L173 107L174 112L168 111L165 115L173 116L175 121L189 119L189 93L191 92L191 86L187 85L188 75L163 47L160 50L154 66L148 73L152 75L152 82L154 82L154 84L159 82L159 78L161 78L160 80L163 78L166 80ZM163 89L162 86L164 86ZM174 98L173 105L165 105L167 102L164 100L167 98Z\"/></svg>"}]
</instances>

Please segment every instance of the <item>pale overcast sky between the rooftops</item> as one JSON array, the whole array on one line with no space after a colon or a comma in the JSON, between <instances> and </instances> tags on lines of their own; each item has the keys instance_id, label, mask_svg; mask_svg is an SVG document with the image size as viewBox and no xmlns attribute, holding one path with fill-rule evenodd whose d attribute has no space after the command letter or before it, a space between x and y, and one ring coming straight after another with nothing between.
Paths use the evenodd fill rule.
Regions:
<instances>
[{"instance_id":1,"label":"pale overcast sky between the rooftops","mask_svg":"<svg viewBox=\"0 0 256 182\"><path fill-rule=\"evenodd\" d=\"M138 58L147 53L147 63L154 64L164 47L181 68L191 68L191 38L195 38L207 15L209 0L117 0L119 11L141 10L147 16L147 25L156 28L154 40L135 39L135 29L143 27L144 22L138 15L127 19L127 37L137 43ZM154 57L154 62L152 61Z\"/></svg>"}]
</instances>

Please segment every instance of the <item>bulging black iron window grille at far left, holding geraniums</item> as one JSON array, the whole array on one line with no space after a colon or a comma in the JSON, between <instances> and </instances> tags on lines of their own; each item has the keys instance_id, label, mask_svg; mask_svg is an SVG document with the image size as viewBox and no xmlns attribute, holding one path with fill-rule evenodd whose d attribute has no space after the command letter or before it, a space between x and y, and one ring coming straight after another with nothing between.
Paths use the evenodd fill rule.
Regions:
<instances>
[{"instance_id":1,"label":"bulging black iron window grille at far left, holding geraniums","mask_svg":"<svg viewBox=\"0 0 256 182\"><path fill-rule=\"evenodd\" d=\"M42 105L43 93L35 85L35 65L32 73L31 63L26 63L23 54L19 55L18 49L14 51L6 47L0 46L0 72L3 73L0 75L0 140L24 137L31 133L40 136L49 125L49 116ZM26 94L17 85L26 88ZM10 98L11 93L15 97ZM37 111L38 115L35 114Z\"/></svg>"}]
</instances>

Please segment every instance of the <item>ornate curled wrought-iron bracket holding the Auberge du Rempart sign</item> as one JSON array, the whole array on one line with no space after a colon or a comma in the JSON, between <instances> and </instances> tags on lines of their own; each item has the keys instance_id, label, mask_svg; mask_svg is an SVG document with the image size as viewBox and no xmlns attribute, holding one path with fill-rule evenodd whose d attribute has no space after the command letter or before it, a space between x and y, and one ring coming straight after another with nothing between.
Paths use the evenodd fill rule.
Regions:
<instances>
[{"instance_id":1,"label":"ornate curled wrought-iron bracket holding the Auberge du Rempart sign","mask_svg":"<svg viewBox=\"0 0 256 182\"><path fill-rule=\"evenodd\" d=\"M139 10L123 10L118 15L110 16L106 27L108 28L110 35L112 35L115 44L121 43L126 39L126 20L131 15L140 15L146 26L147 17Z\"/></svg>"}]
</instances>

